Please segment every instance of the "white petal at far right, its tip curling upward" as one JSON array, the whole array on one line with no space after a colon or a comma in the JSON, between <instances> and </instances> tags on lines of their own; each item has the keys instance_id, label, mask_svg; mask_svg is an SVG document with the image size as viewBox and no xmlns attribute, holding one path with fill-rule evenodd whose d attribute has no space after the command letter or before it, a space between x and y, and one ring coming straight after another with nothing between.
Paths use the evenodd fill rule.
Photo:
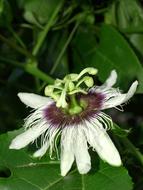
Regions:
<instances>
[{"instance_id":1,"label":"white petal at far right, its tip curling upward","mask_svg":"<svg viewBox=\"0 0 143 190\"><path fill-rule=\"evenodd\" d=\"M116 95L113 94L108 94L107 95L107 100L103 105L102 109L107 109L111 107L116 107L118 105L121 105L125 102L127 102L135 93L136 89L138 86L138 81L135 81L130 89L128 90L127 94L121 94L121 93L116 93ZM108 99L109 96L109 99Z\"/></svg>"}]
</instances>

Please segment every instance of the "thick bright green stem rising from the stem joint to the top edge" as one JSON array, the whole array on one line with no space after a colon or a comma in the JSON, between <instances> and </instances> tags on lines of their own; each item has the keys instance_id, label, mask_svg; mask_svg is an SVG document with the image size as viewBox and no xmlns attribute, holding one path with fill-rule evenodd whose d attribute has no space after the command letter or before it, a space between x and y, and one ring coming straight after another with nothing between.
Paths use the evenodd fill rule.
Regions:
<instances>
[{"instance_id":1,"label":"thick bright green stem rising from the stem joint to the top edge","mask_svg":"<svg viewBox=\"0 0 143 190\"><path fill-rule=\"evenodd\" d=\"M33 51L32 51L32 54L35 56L37 55L37 53L39 52L45 38L46 38L46 35L50 29L50 27L53 25L54 21L55 21L55 18L61 8L63 4L63 0L62 1L59 1L59 4L57 5L56 9L54 10L52 16L50 17L48 23L46 24L45 28L43 29L43 31L39 34L39 38L37 40L37 44L34 46L33 48Z\"/></svg>"}]
</instances>

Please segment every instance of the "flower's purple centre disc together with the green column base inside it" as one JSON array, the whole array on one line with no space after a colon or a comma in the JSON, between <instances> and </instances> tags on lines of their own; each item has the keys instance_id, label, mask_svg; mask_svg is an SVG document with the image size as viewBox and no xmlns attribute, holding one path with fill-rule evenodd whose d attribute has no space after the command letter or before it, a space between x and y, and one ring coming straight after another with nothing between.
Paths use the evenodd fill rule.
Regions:
<instances>
[{"instance_id":1,"label":"flower's purple centre disc together with the green column base inside it","mask_svg":"<svg viewBox=\"0 0 143 190\"><path fill-rule=\"evenodd\" d=\"M51 104L44 109L44 117L55 127L78 125L84 120L97 117L103 101L104 95L101 93L80 93L69 97L66 108L58 108L56 103Z\"/></svg>"}]
</instances>

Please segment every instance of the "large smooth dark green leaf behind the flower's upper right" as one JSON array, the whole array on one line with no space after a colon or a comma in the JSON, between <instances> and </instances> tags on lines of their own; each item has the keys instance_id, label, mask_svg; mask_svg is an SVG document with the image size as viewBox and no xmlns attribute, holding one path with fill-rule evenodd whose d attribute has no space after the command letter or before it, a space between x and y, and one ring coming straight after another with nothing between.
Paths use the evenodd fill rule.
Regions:
<instances>
[{"instance_id":1,"label":"large smooth dark green leaf behind the flower's upper right","mask_svg":"<svg viewBox=\"0 0 143 190\"><path fill-rule=\"evenodd\" d=\"M139 81L138 92L143 92L143 68L123 36L113 27L103 25L98 33L99 42L95 35L88 30L80 30L74 45L75 65L94 66L99 72L99 79L104 82L111 70L118 73L118 85L122 89L128 89L131 82ZM81 64L77 63L77 55ZM82 68L81 66L81 68Z\"/></svg>"}]
</instances>

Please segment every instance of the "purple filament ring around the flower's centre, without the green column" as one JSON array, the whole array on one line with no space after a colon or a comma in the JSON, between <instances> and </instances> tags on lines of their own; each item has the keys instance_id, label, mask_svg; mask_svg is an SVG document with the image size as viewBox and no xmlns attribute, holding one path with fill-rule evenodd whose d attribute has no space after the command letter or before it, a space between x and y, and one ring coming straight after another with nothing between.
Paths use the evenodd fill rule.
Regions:
<instances>
[{"instance_id":1,"label":"purple filament ring around the flower's centre, without the green column","mask_svg":"<svg viewBox=\"0 0 143 190\"><path fill-rule=\"evenodd\" d=\"M72 125L78 125L84 120L90 121L91 118L95 118L100 112L105 95L101 93L90 92L86 95L80 94L77 96L78 101L84 101L87 106L81 113L70 115L66 113L62 108L56 107L55 103L44 109L44 118L50 122L53 127L66 127Z\"/></svg>"}]
</instances>

